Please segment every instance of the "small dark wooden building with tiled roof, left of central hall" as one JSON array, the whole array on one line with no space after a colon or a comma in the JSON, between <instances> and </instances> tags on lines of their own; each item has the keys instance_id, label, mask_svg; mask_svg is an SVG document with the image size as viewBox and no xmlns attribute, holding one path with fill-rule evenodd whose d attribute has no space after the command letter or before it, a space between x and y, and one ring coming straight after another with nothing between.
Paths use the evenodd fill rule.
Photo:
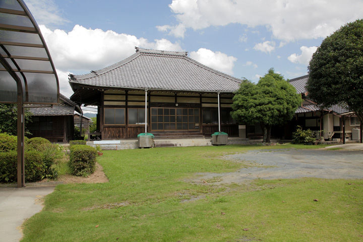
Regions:
<instances>
[{"instance_id":1,"label":"small dark wooden building with tiled roof, left of central hall","mask_svg":"<svg viewBox=\"0 0 363 242\"><path fill-rule=\"evenodd\" d=\"M32 113L32 122L28 124L31 135L28 138L42 137L50 142L68 143L73 140L75 111L82 109L66 96L59 94L57 105L25 105Z\"/></svg>"}]
</instances>

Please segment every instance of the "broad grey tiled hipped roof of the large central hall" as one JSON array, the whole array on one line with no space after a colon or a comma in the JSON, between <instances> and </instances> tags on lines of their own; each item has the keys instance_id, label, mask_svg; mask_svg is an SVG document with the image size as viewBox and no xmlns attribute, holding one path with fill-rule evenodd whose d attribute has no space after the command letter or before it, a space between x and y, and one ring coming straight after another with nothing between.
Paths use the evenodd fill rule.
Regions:
<instances>
[{"instance_id":1,"label":"broad grey tiled hipped roof of the large central hall","mask_svg":"<svg viewBox=\"0 0 363 242\"><path fill-rule=\"evenodd\" d=\"M206 67L187 52L136 48L136 53L86 75L70 75L71 87L154 89L171 91L234 92L240 79Z\"/></svg>"}]
</instances>

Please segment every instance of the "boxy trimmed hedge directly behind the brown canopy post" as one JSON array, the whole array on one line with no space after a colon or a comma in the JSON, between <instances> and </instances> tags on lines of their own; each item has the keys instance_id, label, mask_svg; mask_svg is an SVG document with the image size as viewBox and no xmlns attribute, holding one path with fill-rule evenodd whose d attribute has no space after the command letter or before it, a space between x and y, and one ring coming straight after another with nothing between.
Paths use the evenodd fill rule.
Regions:
<instances>
[{"instance_id":1,"label":"boxy trimmed hedge directly behind the brown canopy post","mask_svg":"<svg viewBox=\"0 0 363 242\"><path fill-rule=\"evenodd\" d=\"M0 182L16 183L17 177L17 152L0 152ZM25 182L32 183L41 180L46 171L43 156L38 151L25 153Z\"/></svg>"}]
</instances>

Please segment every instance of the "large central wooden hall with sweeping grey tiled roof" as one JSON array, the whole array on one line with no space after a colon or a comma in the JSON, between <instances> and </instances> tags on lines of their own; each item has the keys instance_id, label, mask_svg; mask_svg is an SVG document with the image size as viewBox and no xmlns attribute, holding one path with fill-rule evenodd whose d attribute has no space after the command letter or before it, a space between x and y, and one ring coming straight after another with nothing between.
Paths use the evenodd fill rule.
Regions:
<instances>
[{"instance_id":1,"label":"large central wooden hall with sweeping grey tiled roof","mask_svg":"<svg viewBox=\"0 0 363 242\"><path fill-rule=\"evenodd\" d=\"M136 53L109 67L85 75L69 75L71 100L98 106L102 139L156 136L210 136L221 130L238 136L229 116L240 79L209 68L188 52L150 50Z\"/></svg>"}]
</instances>

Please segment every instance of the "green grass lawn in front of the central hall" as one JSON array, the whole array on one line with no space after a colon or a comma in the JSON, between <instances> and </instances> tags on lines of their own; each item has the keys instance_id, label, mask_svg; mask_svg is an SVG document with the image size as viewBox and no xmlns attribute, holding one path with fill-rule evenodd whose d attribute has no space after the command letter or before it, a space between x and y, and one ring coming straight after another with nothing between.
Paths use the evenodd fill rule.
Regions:
<instances>
[{"instance_id":1,"label":"green grass lawn in front of the central hall","mask_svg":"<svg viewBox=\"0 0 363 242\"><path fill-rule=\"evenodd\" d=\"M362 241L363 180L190 183L244 164L223 154L283 145L104 151L104 184L59 185L22 241ZM350 184L350 185L349 185ZM318 201L314 201L318 199Z\"/></svg>"}]
</instances>

